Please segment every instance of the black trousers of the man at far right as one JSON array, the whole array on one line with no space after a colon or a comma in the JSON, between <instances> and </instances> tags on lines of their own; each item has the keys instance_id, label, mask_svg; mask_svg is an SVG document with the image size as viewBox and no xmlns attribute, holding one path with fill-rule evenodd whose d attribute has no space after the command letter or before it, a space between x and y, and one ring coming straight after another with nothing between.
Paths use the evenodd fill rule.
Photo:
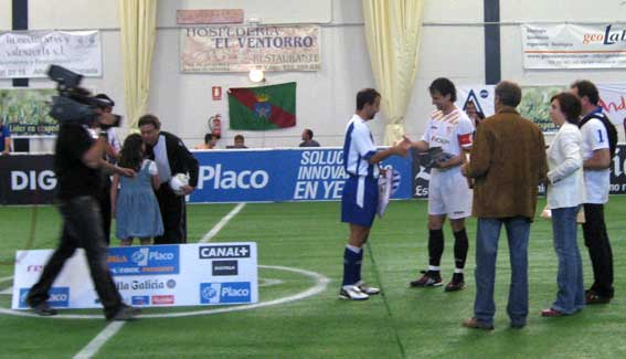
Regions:
<instances>
[{"instance_id":1,"label":"black trousers of the man at far right","mask_svg":"<svg viewBox=\"0 0 626 359\"><path fill-rule=\"evenodd\" d=\"M584 203L585 223L583 235L590 251L594 283L591 286L597 295L613 297L613 251L604 223L604 204Z\"/></svg>"}]
</instances>

